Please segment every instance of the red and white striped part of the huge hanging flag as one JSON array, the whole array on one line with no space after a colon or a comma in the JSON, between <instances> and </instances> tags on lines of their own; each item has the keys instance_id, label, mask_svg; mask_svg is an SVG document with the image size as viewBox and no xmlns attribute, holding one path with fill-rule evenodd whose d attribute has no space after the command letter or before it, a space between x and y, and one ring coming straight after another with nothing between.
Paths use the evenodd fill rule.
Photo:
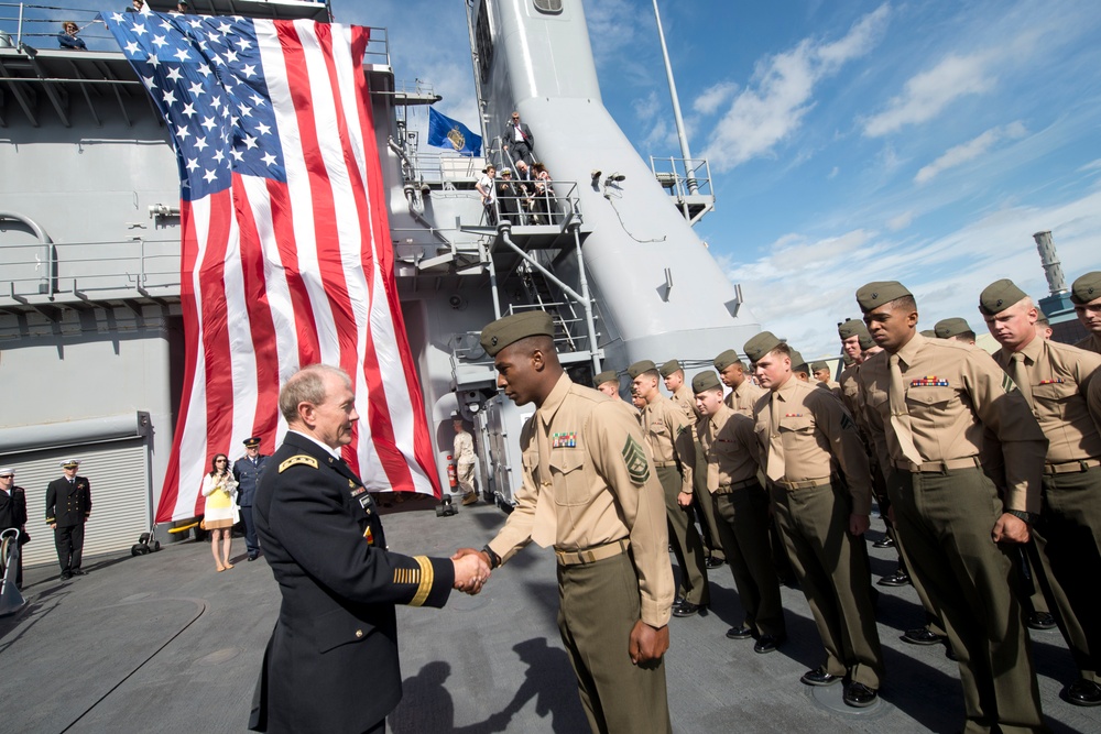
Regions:
<instances>
[{"instance_id":1,"label":"red and white striped part of the huge hanging flag","mask_svg":"<svg viewBox=\"0 0 1101 734\"><path fill-rule=\"evenodd\" d=\"M201 514L210 458L249 436L271 453L279 386L345 369L360 420L345 459L370 490L439 496L405 336L367 81L368 30L255 21L286 184L233 174L182 211L187 363L156 522Z\"/></svg>"}]
</instances>

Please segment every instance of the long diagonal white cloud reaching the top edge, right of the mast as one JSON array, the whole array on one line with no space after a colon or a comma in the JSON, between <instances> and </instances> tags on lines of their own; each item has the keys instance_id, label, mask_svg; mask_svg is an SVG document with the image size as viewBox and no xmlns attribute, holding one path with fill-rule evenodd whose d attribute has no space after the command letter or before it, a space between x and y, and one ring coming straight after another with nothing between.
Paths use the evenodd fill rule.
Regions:
<instances>
[{"instance_id":1,"label":"long diagonal white cloud reaching the top edge, right of the mast","mask_svg":"<svg viewBox=\"0 0 1101 734\"><path fill-rule=\"evenodd\" d=\"M866 54L887 24L880 6L832 43L804 39L791 51L757 63L754 84L734 97L715 128L704 156L718 172L767 154L799 128L814 107L815 85L846 63Z\"/></svg>"}]
</instances>

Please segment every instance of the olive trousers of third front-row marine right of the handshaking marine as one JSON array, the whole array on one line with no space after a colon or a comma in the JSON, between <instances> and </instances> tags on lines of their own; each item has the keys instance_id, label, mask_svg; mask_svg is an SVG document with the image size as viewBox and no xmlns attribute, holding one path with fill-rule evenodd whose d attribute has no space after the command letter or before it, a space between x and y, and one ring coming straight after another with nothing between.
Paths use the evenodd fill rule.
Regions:
<instances>
[{"instance_id":1,"label":"olive trousers of third front-row marine right of the handshaking marine","mask_svg":"<svg viewBox=\"0 0 1101 734\"><path fill-rule=\"evenodd\" d=\"M780 580L768 559L768 495L760 484L711 495L719 539L727 551L745 626L760 635L786 635Z\"/></svg>"}]
</instances>

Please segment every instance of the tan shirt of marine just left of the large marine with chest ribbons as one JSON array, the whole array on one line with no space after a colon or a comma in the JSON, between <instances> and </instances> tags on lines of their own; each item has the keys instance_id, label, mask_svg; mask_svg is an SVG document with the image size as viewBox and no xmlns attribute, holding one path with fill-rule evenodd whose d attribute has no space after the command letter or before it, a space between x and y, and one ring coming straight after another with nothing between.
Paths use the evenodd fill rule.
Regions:
<instances>
[{"instance_id":1,"label":"tan shirt of marine just left of the large marine with chest ribbons","mask_svg":"<svg viewBox=\"0 0 1101 734\"><path fill-rule=\"evenodd\" d=\"M775 395L775 398L773 398ZM780 425L772 425L772 399L780 401ZM768 465L770 437L780 432L784 447L784 480L829 480L838 465L852 495L852 513L872 512L872 472L868 454L849 412L825 390L794 375L776 391L765 393L753 413L761 446L761 465Z\"/></svg>"}]
</instances>

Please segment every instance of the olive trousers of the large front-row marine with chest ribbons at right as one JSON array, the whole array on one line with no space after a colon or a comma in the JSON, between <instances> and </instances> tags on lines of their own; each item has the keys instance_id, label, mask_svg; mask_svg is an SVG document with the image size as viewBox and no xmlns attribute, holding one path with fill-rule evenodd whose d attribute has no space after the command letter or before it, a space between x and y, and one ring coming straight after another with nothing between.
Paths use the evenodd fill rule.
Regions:
<instances>
[{"instance_id":1,"label":"olive trousers of the large front-row marine with chest ribbons at right","mask_svg":"<svg viewBox=\"0 0 1101 734\"><path fill-rule=\"evenodd\" d=\"M966 732L1047 731L1014 558L990 532L1002 501L982 470L892 471L900 548L959 658Z\"/></svg>"}]
</instances>

